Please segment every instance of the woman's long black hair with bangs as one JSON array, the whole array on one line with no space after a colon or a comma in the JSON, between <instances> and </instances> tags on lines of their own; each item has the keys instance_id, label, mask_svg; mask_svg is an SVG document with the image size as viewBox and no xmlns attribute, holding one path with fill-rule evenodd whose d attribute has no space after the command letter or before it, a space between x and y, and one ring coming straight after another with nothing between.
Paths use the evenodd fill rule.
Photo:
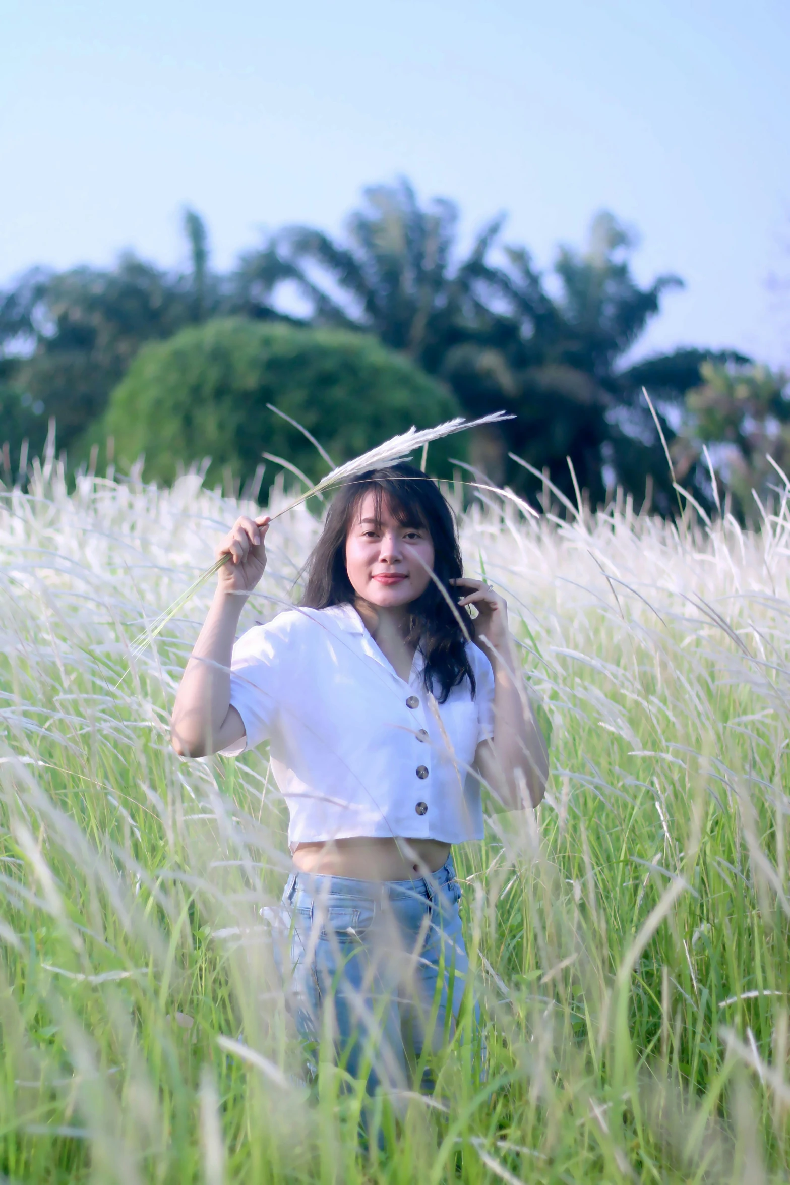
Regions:
<instances>
[{"instance_id":1,"label":"woman's long black hair with bangs","mask_svg":"<svg viewBox=\"0 0 790 1185\"><path fill-rule=\"evenodd\" d=\"M368 469L340 486L327 512L321 538L304 568L307 585L301 604L311 609L354 604L357 594L346 571L346 539L354 513L371 492L377 518L386 502L402 526L423 527L433 543L435 579L429 581L422 596L409 606L409 641L423 652L425 686L433 694L438 691L436 698L443 704L451 688L468 679L474 698L475 675L465 640L474 638L475 629L469 609L457 606L464 592L449 583L463 576L455 519L437 485L412 465L402 462Z\"/></svg>"}]
</instances>

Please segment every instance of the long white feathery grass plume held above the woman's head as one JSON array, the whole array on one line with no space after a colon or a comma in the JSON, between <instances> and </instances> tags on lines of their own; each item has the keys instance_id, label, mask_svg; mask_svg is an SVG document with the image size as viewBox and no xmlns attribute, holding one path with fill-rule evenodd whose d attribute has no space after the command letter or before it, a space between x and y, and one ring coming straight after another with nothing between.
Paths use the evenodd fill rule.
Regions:
<instances>
[{"instance_id":1,"label":"long white feathery grass plume held above the woman's head","mask_svg":"<svg viewBox=\"0 0 790 1185\"><path fill-rule=\"evenodd\" d=\"M452 436L455 433L463 433L468 428L480 428L483 424L500 424L505 419L513 419L514 417L507 411L494 411L488 416L481 416L480 419L467 421L463 416L456 416L455 419L448 419L443 424L437 424L436 428L417 428L412 427L407 433L402 433L399 436L392 436L391 440L385 441L384 444L379 444L377 448L370 449L367 453L362 453L361 456L355 457L353 461L346 461L345 465L339 465L330 473L322 478L317 485L311 486L303 494L301 494L295 501L290 502L284 510L280 511L277 514L272 514L271 520L280 518L282 514L287 514L288 511L294 510L295 506L300 506L302 502L307 501L308 498L315 498L317 494L322 494L326 489L332 488L332 486L339 486L343 481L348 481L349 478L355 478L360 473L366 473L368 469L379 469L385 465L397 465L399 461L405 461L411 453L419 448L420 446L430 444L431 441L441 440L444 436ZM223 564L227 563L229 556L220 556L211 568L206 569L201 575L190 585L186 591L181 594L168 608L152 622L150 627L143 630L135 638L131 643L131 656L137 658L146 651L153 640L161 634L162 629L167 626L168 621L172 619L192 600L194 594L203 588L206 581L219 571ZM123 679L124 675L121 677Z\"/></svg>"}]
</instances>

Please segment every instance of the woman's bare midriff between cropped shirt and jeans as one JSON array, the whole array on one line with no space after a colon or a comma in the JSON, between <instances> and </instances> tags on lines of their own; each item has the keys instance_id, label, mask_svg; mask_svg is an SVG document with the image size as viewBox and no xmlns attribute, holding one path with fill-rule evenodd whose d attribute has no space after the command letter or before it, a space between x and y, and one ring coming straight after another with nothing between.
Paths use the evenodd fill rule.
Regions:
<instances>
[{"instance_id":1,"label":"woman's bare midriff between cropped shirt and jeans","mask_svg":"<svg viewBox=\"0 0 790 1185\"><path fill-rule=\"evenodd\" d=\"M354 838L297 844L294 867L314 876L354 880L413 880L437 872L450 844L436 839Z\"/></svg>"}]
</instances>

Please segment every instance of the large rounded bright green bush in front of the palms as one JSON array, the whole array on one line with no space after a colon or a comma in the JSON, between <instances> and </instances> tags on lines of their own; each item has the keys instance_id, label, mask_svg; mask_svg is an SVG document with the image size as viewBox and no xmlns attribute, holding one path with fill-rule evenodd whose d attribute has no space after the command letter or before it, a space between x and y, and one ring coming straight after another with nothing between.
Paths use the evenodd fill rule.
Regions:
<instances>
[{"instance_id":1,"label":"large rounded bright green bush in front of the palms","mask_svg":"<svg viewBox=\"0 0 790 1185\"><path fill-rule=\"evenodd\" d=\"M121 463L144 453L146 475L161 481L173 480L180 461L210 456L210 482L231 470L244 486L263 453L323 476L315 447L268 404L311 431L336 463L458 410L448 390L372 337L226 318L144 346L92 438L114 436ZM437 444L433 472L443 456ZM264 487L278 469L268 465Z\"/></svg>"}]
</instances>

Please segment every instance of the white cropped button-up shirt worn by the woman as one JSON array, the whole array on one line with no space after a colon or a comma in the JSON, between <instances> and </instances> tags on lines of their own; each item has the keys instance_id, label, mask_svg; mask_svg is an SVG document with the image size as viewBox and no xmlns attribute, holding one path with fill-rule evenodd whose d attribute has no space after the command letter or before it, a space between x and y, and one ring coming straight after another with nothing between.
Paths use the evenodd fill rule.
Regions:
<instances>
[{"instance_id":1,"label":"white cropped button-up shirt worn by the woman","mask_svg":"<svg viewBox=\"0 0 790 1185\"><path fill-rule=\"evenodd\" d=\"M467 643L475 673L444 704L426 692L417 651L409 683L351 606L288 609L233 646L231 704L245 738L270 742L271 770L300 843L387 835L482 839L477 744L494 735L494 672Z\"/></svg>"}]
</instances>

